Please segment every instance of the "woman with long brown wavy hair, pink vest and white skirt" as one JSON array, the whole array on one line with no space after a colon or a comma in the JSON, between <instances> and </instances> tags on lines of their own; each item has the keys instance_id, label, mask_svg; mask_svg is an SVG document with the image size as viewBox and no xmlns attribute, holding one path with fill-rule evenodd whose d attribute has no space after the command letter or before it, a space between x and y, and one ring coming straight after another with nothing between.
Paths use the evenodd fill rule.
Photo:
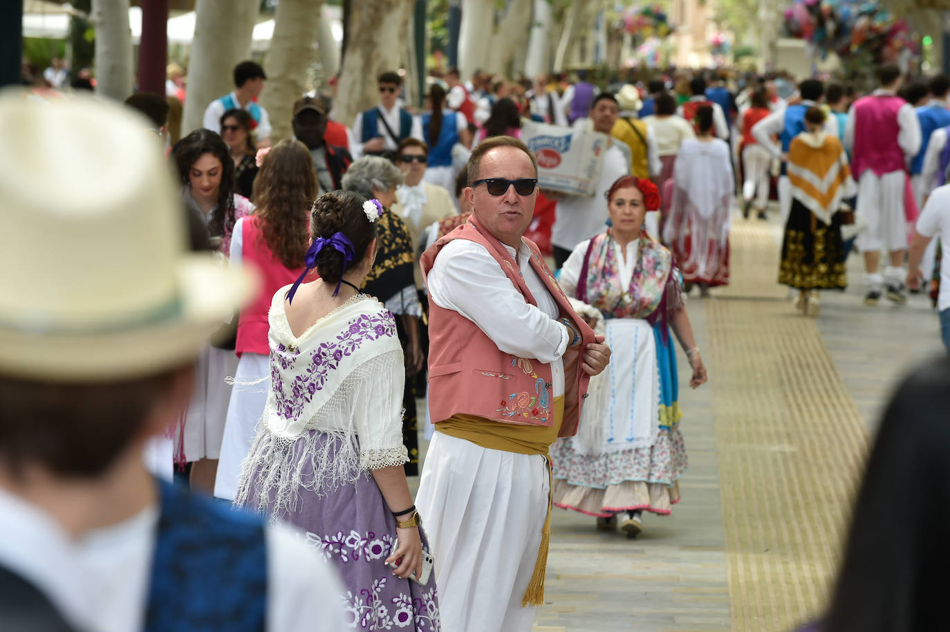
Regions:
<instances>
[{"instance_id":1,"label":"woman with long brown wavy hair, pink vest and white skirt","mask_svg":"<svg viewBox=\"0 0 950 632\"><path fill-rule=\"evenodd\" d=\"M267 312L274 293L303 272L309 211L316 193L310 150L299 141L281 141L264 157L257 174L257 209L235 224L231 264L254 266L261 287L237 320L235 350L240 359L221 443L215 482L218 498L235 499L240 463L247 456L264 410L270 380Z\"/></svg>"}]
</instances>

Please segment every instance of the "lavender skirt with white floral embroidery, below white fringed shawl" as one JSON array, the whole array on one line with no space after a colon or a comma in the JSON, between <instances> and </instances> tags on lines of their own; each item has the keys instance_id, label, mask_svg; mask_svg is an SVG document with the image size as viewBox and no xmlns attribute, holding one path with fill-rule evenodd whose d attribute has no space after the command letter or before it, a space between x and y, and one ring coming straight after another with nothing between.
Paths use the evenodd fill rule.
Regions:
<instances>
[{"instance_id":1,"label":"lavender skirt with white floral embroidery, below white fringed shawl","mask_svg":"<svg viewBox=\"0 0 950 632\"><path fill-rule=\"evenodd\" d=\"M331 451L335 455L340 439L322 432L318 434L322 436L316 437L317 449L333 442L336 445L331 446ZM307 437L301 437L293 447L294 462L308 463L302 472L305 485L313 481L314 475L310 459L303 453L307 444ZM269 463L257 464L246 506L257 509L258 486L271 467ZM395 547L396 520L371 475L360 476L356 483L341 485L322 496L303 487L298 492L294 511L281 510L273 514L274 504L270 503L267 513L303 531L308 544L335 566L346 590L341 599L350 629L420 632L441 629L435 570L429 574L428 584L423 586L396 577L385 564L390 550ZM419 534L423 548L428 551L428 539L421 528Z\"/></svg>"}]
</instances>

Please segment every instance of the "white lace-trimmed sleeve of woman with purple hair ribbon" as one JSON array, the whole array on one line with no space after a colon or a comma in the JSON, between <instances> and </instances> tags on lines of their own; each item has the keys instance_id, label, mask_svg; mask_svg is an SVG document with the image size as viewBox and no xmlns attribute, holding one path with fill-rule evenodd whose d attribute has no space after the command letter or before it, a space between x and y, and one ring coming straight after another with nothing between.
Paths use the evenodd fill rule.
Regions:
<instances>
[{"instance_id":1,"label":"white lace-trimmed sleeve of woman with purple hair ribbon","mask_svg":"<svg viewBox=\"0 0 950 632\"><path fill-rule=\"evenodd\" d=\"M399 466L409 461L403 445L403 352L395 349L367 360L350 375L353 430L359 437L360 469ZM341 387L341 388L345 388Z\"/></svg>"}]
</instances>

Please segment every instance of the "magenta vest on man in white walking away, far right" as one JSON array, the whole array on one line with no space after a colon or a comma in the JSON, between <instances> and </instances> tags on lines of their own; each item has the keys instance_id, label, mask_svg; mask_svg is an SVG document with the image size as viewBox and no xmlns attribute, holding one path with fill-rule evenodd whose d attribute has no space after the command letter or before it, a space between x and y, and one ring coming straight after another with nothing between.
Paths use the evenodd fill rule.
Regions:
<instances>
[{"instance_id":1,"label":"magenta vest on man in white walking away, far right","mask_svg":"<svg viewBox=\"0 0 950 632\"><path fill-rule=\"evenodd\" d=\"M897 113L906 102L901 97L871 95L854 104L854 160L851 162L855 180L866 169L879 178L885 173L906 170L903 150L897 143L901 133Z\"/></svg>"}]
</instances>

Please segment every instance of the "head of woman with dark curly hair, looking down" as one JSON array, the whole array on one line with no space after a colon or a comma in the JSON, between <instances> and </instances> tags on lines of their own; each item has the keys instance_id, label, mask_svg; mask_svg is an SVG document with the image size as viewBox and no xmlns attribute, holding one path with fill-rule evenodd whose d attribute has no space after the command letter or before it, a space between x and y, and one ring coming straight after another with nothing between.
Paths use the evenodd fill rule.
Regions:
<instances>
[{"instance_id":1,"label":"head of woman with dark curly hair, looking down","mask_svg":"<svg viewBox=\"0 0 950 632\"><path fill-rule=\"evenodd\" d=\"M204 218L208 233L220 239L218 248L227 255L235 223L254 210L251 201L237 193L228 145L210 129L196 129L175 145L174 153L185 203Z\"/></svg>"}]
</instances>

